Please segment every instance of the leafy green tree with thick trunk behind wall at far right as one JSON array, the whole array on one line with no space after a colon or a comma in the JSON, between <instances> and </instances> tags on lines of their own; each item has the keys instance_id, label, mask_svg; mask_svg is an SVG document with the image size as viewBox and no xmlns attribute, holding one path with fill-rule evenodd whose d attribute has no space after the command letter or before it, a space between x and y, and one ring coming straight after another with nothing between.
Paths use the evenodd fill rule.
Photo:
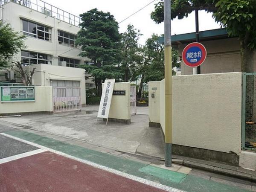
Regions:
<instances>
[{"instance_id":1,"label":"leafy green tree with thick trunk behind wall at far right","mask_svg":"<svg viewBox=\"0 0 256 192\"><path fill-rule=\"evenodd\" d=\"M253 72L253 50L256 48L256 1L219 0L213 13L230 36L238 36L241 46L241 71Z\"/></svg>"}]
</instances>

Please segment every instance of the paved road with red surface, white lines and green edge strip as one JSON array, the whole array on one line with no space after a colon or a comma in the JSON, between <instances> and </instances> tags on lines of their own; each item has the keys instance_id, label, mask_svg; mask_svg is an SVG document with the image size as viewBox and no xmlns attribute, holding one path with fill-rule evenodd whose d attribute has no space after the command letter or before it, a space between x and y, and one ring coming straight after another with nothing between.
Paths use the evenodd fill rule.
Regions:
<instances>
[{"instance_id":1,"label":"paved road with red surface, white lines and green edge strip","mask_svg":"<svg viewBox=\"0 0 256 192\"><path fill-rule=\"evenodd\" d=\"M0 128L4 132L0 134L0 192L256 189L162 169L1 124Z\"/></svg>"}]
</instances>

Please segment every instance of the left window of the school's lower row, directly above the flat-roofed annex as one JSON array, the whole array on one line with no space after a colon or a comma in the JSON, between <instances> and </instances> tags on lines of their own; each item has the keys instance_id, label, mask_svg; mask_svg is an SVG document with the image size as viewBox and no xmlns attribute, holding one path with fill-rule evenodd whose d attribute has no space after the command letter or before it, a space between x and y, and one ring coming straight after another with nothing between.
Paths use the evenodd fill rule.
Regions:
<instances>
[{"instance_id":1,"label":"left window of the school's lower row, directly above the flat-roofed annex","mask_svg":"<svg viewBox=\"0 0 256 192\"><path fill-rule=\"evenodd\" d=\"M21 51L21 63L23 66L29 64L50 64L49 55L39 52Z\"/></svg>"}]
</instances>

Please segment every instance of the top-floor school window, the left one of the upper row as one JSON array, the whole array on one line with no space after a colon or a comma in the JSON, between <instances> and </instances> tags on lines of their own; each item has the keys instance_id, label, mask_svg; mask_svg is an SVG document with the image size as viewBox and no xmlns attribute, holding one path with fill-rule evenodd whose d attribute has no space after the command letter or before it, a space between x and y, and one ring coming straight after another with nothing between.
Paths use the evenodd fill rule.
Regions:
<instances>
[{"instance_id":1,"label":"top-floor school window, the left one of the upper row","mask_svg":"<svg viewBox=\"0 0 256 192\"><path fill-rule=\"evenodd\" d=\"M24 35L51 41L51 28L41 24L33 23L28 20L22 20L22 32Z\"/></svg>"}]
</instances>

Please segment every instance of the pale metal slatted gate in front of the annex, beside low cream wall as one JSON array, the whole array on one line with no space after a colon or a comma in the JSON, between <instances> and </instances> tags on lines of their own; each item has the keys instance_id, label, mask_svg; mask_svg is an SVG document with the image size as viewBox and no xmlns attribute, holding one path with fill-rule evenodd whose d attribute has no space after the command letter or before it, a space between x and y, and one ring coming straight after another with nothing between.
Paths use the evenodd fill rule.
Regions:
<instances>
[{"instance_id":1,"label":"pale metal slatted gate in front of the annex, beside low cream wall","mask_svg":"<svg viewBox=\"0 0 256 192\"><path fill-rule=\"evenodd\" d=\"M81 89L52 87L53 112L81 110Z\"/></svg>"}]
</instances>

